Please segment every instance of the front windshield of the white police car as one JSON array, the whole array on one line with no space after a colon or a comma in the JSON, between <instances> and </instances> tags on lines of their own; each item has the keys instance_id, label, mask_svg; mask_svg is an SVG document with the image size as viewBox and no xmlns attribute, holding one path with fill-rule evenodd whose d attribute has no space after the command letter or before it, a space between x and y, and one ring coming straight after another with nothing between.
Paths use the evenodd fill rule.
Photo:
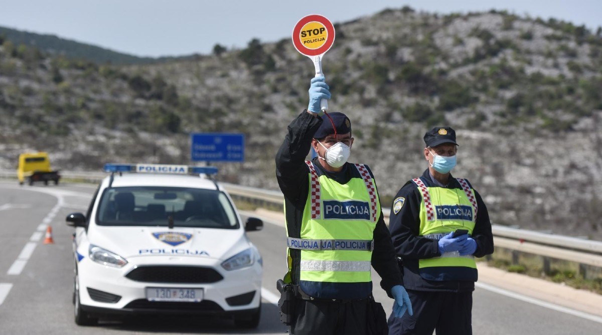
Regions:
<instances>
[{"instance_id":1,"label":"front windshield of the white police car","mask_svg":"<svg viewBox=\"0 0 602 335\"><path fill-rule=\"evenodd\" d=\"M237 229L225 193L185 187L113 187L102 194L96 223L101 226L169 226Z\"/></svg>"}]
</instances>

